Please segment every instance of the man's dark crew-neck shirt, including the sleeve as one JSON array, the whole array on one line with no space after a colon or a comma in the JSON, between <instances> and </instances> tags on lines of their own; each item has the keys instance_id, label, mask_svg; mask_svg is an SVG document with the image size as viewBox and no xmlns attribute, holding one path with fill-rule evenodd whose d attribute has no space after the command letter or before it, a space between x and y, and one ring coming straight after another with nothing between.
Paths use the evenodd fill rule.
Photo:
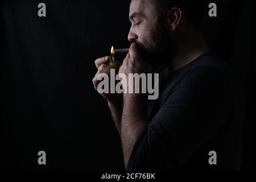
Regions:
<instances>
[{"instance_id":1,"label":"man's dark crew-neck shirt, including the sleeve","mask_svg":"<svg viewBox=\"0 0 256 182\"><path fill-rule=\"evenodd\" d=\"M127 170L240 169L242 119L228 66L208 52L166 78L167 70ZM217 164L209 163L210 151Z\"/></svg>"}]
</instances>

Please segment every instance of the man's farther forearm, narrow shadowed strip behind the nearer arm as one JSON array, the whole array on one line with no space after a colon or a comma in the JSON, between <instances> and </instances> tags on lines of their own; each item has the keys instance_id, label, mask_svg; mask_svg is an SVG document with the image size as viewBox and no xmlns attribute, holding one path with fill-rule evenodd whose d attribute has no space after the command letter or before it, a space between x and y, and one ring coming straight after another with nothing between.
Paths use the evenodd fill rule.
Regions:
<instances>
[{"instance_id":1,"label":"man's farther forearm, narrow shadowed strip behind the nearer arm","mask_svg":"<svg viewBox=\"0 0 256 182\"><path fill-rule=\"evenodd\" d=\"M121 131L121 115L122 115L122 100L115 102L108 101L109 109L114 121L115 127L117 128L118 133Z\"/></svg>"}]
</instances>

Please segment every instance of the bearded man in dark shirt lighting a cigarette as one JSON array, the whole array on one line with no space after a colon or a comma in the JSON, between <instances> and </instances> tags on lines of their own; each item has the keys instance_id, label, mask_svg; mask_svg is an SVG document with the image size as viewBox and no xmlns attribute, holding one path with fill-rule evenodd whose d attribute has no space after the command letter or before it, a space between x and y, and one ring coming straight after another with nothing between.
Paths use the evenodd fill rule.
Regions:
<instances>
[{"instance_id":1,"label":"bearded man in dark shirt lighting a cigarette","mask_svg":"<svg viewBox=\"0 0 256 182\"><path fill-rule=\"evenodd\" d=\"M201 2L132 0L119 73L159 73L159 98L106 94L127 170L240 169L242 122L228 65L201 31ZM95 61L110 73L108 56ZM125 85L123 85L125 86ZM131 85L129 85L131 86ZM212 156L214 155L214 156Z\"/></svg>"}]
</instances>

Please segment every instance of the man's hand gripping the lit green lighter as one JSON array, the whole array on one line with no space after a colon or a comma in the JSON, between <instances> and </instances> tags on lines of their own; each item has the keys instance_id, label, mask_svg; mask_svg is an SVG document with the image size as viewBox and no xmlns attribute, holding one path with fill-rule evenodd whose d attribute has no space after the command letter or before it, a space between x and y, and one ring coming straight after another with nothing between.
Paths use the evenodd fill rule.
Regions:
<instances>
[{"instance_id":1,"label":"man's hand gripping the lit green lighter","mask_svg":"<svg viewBox=\"0 0 256 182\"><path fill-rule=\"evenodd\" d=\"M98 84L101 82L100 80L97 79L98 75L100 75L101 73L105 73L109 76L110 78L110 66L108 65L109 62L109 57L101 57L99 59L97 59L95 61L95 65L98 69L96 75L93 78L93 85L94 88L97 90ZM121 66L121 63L119 63L118 61L115 61L116 65L117 65L117 69L115 69L115 71L117 72L119 67ZM113 68L112 68L113 69ZM98 91L98 90L97 90ZM117 102L117 100L120 100L121 94L111 94L111 93L103 93L101 94L108 102Z\"/></svg>"}]
</instances>

